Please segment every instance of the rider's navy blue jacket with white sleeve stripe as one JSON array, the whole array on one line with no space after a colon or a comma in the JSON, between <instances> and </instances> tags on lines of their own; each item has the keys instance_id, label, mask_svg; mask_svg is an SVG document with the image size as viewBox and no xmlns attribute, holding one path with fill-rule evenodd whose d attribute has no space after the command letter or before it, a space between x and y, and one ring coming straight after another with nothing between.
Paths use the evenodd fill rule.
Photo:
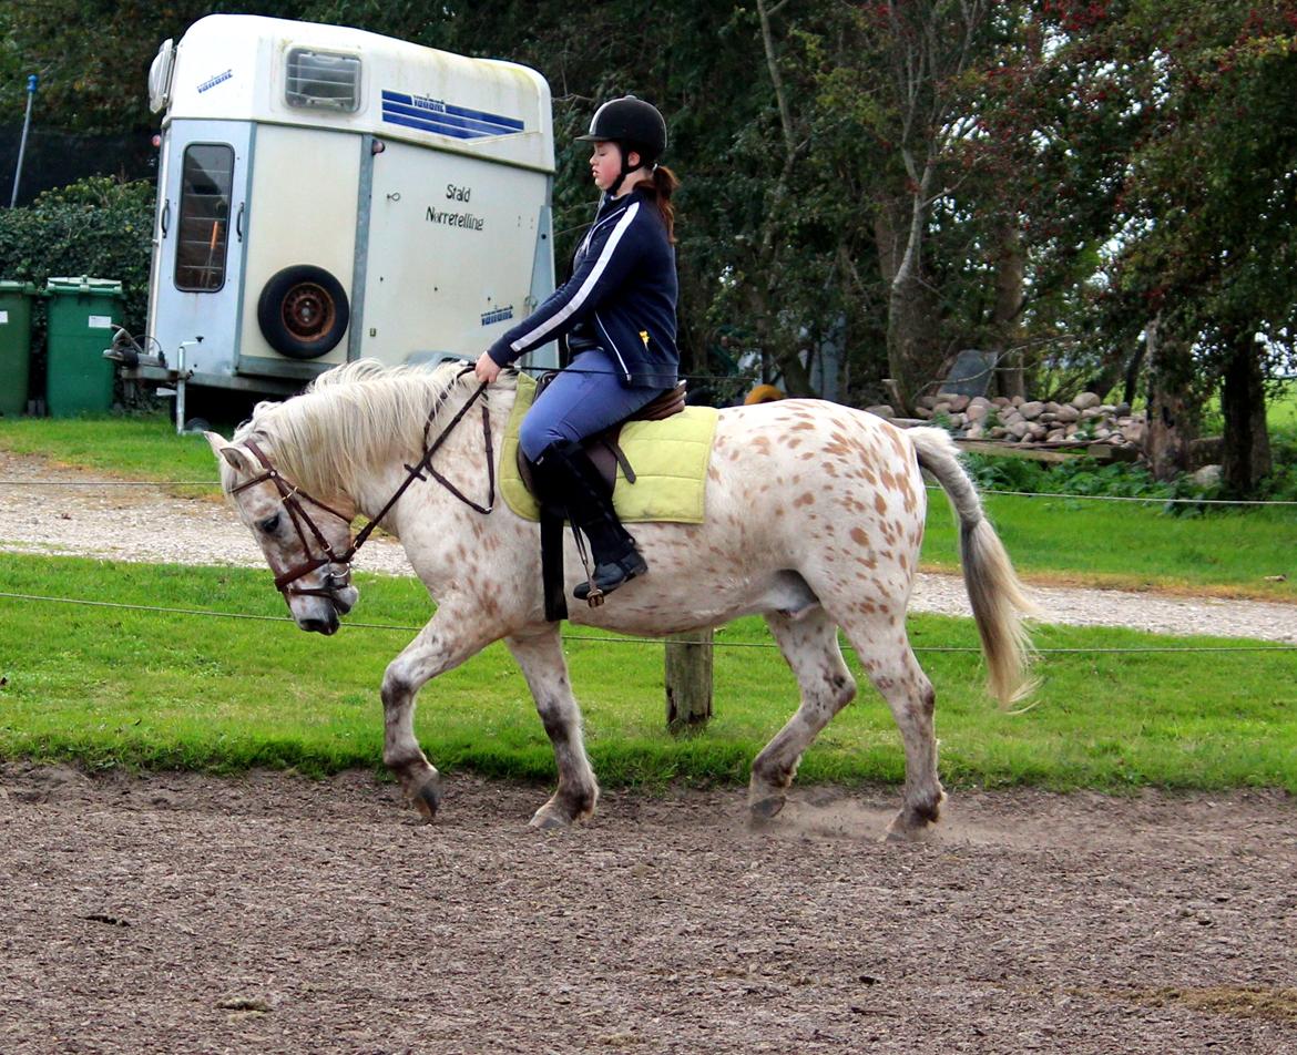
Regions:
<instances>
[{"instance_id":1,"label":"rider's navy blue jacket with white sleeve stripe","mask_svg":"<svg viewBox=\"0 0 1297 1055\"><path fill-rule=\"evenodd\" d=\"M677 296L676 250L652 196L636 189L604 198L576 253L572 277L486 354L508 365L578 329L616 360L623 384L669 389L680 373Z\"/></svg>"}]
</instances>

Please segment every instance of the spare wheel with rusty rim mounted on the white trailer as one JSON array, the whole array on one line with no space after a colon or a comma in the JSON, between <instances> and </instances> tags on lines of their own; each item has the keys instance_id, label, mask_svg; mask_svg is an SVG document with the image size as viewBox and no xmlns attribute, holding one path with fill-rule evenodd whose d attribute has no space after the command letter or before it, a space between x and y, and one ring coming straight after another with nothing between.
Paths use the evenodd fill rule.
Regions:
<instances>
[{"instance_id":1,"label":"spare wheel with rusty rim mounted on the white trailer","mask_svg":"<svg viewBox=\"0 0 1297 1055\"><path fill-rule=\"evenodd\" d=\"M332 350L346 333L350 315L342 284L314 264L276 272L257 302L266 341L293 359L318 359Z\"/></svg>"}]
</instances>

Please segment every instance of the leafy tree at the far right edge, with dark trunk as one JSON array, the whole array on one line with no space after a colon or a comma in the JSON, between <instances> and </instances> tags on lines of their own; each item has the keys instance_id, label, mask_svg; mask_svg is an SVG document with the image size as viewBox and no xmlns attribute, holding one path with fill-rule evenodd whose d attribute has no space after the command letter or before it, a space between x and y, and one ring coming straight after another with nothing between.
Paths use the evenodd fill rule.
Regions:
<instances>
[{"instance_id":1,"label":"leafy tree at the far right edge, with dark trunk","mask_svg":"<svg viewBox=\"0 0 1297 1055\"><path fill-rule=\"evenodd\" d=\"M1117 29L1157 75L1117 277L1223 381L1224 483L1250 494L1270 470L1266 377L1297 347L1297 12L1141 0Z\"/></svg>"}]
</instances>

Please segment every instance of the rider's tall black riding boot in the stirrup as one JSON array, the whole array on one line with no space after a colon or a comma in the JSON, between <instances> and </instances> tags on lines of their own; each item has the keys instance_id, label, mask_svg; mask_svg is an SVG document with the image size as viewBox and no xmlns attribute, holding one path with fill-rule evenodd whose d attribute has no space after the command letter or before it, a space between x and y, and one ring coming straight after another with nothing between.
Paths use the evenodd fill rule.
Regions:
<instances>
[{"instance_id":1,"label":"rider's tall black riding boot in the stirrup","mask_svg":"<svg viewBox=\"0 0 1297 1055\"><path fill-rule=\"evenodd\" d=\"M572 591L577 600L601 604L603 594L648 570L636 540L613 512L603 477L578 443L551 443L533 463L533 476L541 500L559 507L590 540L594 575Z\"/></svg>"}]
</instances>

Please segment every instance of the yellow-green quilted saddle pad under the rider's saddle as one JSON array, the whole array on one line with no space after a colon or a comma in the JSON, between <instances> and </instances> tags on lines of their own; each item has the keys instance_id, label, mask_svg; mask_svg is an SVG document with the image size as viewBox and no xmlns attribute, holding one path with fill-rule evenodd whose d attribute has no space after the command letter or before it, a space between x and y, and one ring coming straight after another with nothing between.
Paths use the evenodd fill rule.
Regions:
<instances>
[{"instance_id":1,"label":"yellow-green quilted saddle pad under the rider's saddle","mask_svg":"<svg viewBox=\"0 0 1297 1055\"><path fill-rule=\"evenodd\" d=\"M518 397L508 416L505 450L501 452L499 491L508 508L527 520L540 520L541 509L518 472L518 429L536 398L536 381L518 375ZM703 491L707 463L716 432L712 407L686 407L661 421L628 421L617 446L634 469L630 483L621 467L612 489L612 505L624 524L671 521L703 522Z\"/></svg>"}]
</instances>

